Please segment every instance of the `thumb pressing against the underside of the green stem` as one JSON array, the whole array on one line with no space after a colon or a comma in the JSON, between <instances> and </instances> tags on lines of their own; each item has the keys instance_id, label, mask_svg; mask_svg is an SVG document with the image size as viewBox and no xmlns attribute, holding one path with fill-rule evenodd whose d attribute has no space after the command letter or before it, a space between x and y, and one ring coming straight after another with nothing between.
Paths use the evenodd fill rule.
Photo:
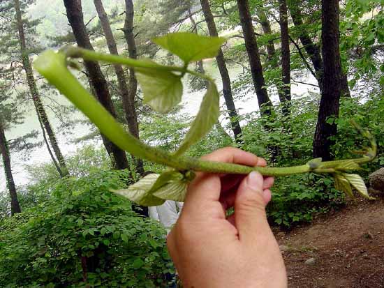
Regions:
<instances>
[{"instance_id":1,"label":"thumb pressing against the underside of the green stem","mask_svg":"<svg viewBox=\"0 0 384 288\"><path fill-rule=\"evenodd\" d=\"M240 241L251 241L260 234L269 234L270 228L265 214L265 197L263 195L263 176L251 172L240 183L235 198L235 225Z\"/></svg>"}]
</instances>

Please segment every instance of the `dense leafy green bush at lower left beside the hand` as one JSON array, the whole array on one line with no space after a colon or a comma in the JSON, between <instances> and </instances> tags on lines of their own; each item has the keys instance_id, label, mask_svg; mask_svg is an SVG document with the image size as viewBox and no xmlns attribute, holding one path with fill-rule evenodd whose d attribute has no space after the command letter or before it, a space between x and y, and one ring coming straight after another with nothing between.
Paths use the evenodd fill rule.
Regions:
<instances>
[{"instance_id":1,"label":"dense leafy green bush at lower left beside the hand","mask_svg":"<svg viewBox=\"0 0 384 288\"><path fill-rule=\"evenodd\" d=\"M168 287L164 229L109 191L127 176L61 180L49 201L1 220L0 287Z\"/></svg>"}]
</instances>

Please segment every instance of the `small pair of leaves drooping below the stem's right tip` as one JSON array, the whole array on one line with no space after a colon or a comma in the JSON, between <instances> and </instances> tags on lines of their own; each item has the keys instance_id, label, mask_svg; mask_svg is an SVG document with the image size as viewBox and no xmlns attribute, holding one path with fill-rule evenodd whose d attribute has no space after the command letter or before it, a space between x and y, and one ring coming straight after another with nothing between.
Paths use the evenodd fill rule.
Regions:
<instances>
[{"instance_id":1,"label":"small pair of leaves drooping below the stem's right tip","mask_svg":"<svg viewBox=\"0 0 384 288\"><path fill-rule=\"evenodd\" d=\"M369 196L367 186L362 177L358 174L334 174L334 186L337 190L345 192L348 196L353 198L351 185L367 199L374 199Z\"/></svg>"}]
</instances>

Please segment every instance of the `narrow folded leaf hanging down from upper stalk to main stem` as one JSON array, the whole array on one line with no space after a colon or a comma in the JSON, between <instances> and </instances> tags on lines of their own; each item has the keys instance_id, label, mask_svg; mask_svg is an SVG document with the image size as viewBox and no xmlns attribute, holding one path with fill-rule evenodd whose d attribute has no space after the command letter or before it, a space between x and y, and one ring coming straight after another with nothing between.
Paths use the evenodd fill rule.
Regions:
<instances>
[{"instance_id":1,"label":"narrow folded leaf hanging down from upper stalk to main stem","mask_svg":"<svg viewBox=\"0 0 384 288\"><path fill-rule=\"evenodd\" d=\"M184 153L191 145L198 142L204 137L209 130L211 130L214 123L219 118L219 92L217 91L216 84L209 82L207 93L205 93L200 110L195 120L192 123L191 128L186 133L186 137L182 142L182 145L175 152L175 156L180 156Z\"/></svg>"}]
</instances>

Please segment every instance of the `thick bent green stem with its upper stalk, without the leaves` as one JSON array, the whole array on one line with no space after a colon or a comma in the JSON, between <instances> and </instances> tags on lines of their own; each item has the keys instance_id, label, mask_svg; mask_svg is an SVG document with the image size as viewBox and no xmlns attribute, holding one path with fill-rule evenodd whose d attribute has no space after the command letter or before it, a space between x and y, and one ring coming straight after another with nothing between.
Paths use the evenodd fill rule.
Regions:
<instances>
[{"instance_id":1,"label":"thick bent green stem with its upper stalk, without the leaves","mask_svg":"<svg viewBox=\"0 0 384 288\"><path fill-rule=\"evenodd\" d=\"M135 68L156 68L182 72L185 68L171 66L159 66L156 63L126 59L115 55L104 55L80 48L66 48L61 52L48 50L41 54L34 62L34 67L48 82L53 84L71 102L79 108L98 129L121 149L133 156L156 162L161 165L175 168L179 171L193 170L200 172L249 174L252 171L260 172L265 176L287 176L307 172L323 173L320 167L311 168L308 164L294 167L248 167L225 162L212 162L199 160L187 156L175 157L171 153L149 146L129 134L110 113L84 89L82 84L67 68L67 57L82 57L91 61L106 61L108 63L122 63ZM187 71L190 73L189 71ZM199 73L191 74L202 77ZM203 75L206 79L209 77ZM210 79L212 81L212 79ZM345 160L341 160L345 161ZM336 161L337 162L337 161ZM332 163L332 162L324 162ZM323 164L323 163L322 163ZM333 165L334 166L334 165ZM332 167L332 165L330 165Z\"/></svg>"}]
</instances>

